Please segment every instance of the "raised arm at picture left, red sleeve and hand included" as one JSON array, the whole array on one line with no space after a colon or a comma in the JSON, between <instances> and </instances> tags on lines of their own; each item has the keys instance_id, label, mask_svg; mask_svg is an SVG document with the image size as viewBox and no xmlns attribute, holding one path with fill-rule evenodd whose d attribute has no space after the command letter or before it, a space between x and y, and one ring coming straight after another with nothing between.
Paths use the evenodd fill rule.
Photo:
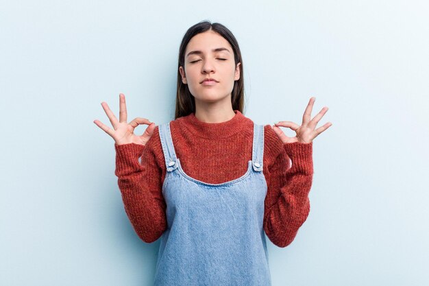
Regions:
<instances>
[{"instance_id":1,"label":"raised arm at picture left, red sleeve and hand included","mask_svg":"<svg viewBox=\"0 0 429 286\"><path fill-rule=\"evenodd\" d=\"M122 93L119 94L119 120L106 102L101 102L101 106L113 129L99 120L94 123L114 139L117 152L115 174L118 177L125 212L140 239L148 243L156 241L167 228L166 204L161 183L164 169L159 167L161 163L156 163L151 147L154 140L149 140L154 134L154 138L159 138L158 126L141 117L127 123L127 106ZM148 127L142 135L137 136L134 129L142 124ZM138 161L140 157L141 164Z\"/></svg>"}]
</instances>

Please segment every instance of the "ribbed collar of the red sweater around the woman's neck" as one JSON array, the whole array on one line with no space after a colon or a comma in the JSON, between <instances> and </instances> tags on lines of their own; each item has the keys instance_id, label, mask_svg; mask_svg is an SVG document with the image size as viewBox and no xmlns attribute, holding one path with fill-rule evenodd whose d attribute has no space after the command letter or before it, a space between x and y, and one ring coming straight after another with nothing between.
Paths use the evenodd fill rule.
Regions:
<instances>
[{"instance_id":1,"label":"ribbed collar of the red sweater around the woman's neck","mask_svg":"<svg viewBox=\"0 0 429 286\"><path fill-rule=\"evenodd\" d=\"M206 123L195 117L194 113L181 117L180 123L195 136L208 139L225 138L238 134L252 124L252 120L245 117L239 110L234 110L234 117L219 123Z\"/></svg>"}]
</instances>

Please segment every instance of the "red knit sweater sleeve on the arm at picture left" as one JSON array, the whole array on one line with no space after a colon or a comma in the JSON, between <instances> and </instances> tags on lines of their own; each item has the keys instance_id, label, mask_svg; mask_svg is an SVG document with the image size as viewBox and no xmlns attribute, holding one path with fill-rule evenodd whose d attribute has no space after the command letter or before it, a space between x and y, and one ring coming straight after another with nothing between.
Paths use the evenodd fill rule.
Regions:
<instances>
[{"instance_id":1,"label":"red knit sweater sleeve on the arm at picture left","mask_svg":"<svg viewBox=\"0 0 429 286\"><path fill-rule=\"evenodd\" d=\"M125 212L138 237L147 243L156 241L167 228L166 203L162 195L162 170L153 150L135 143L114 145L115 175ZM141 156L141 163L139 158Z\"/></svg>"}]
</instances>

